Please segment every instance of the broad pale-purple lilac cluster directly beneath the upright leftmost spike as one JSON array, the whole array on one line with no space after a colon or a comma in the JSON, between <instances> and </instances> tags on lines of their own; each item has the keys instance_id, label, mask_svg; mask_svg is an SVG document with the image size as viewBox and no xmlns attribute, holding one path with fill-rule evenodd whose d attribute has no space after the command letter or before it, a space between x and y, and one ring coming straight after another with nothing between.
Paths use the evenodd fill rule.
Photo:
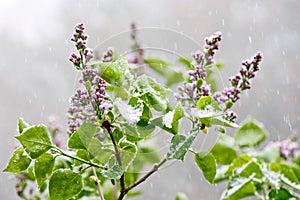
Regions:
<instances>
[{"instance_id":1,"label":"broad pale-purple lilac cluster directly beneath the upright leftmost spike","mask_svg":"<svg viewBox=\"0 0 300 200\"><path fill-rule=\"evenodd\" d=\"M98 70L87 66L82 70L79 83L91 84L90 88L77 89L70 98L68 110L68 133L74 133L84 121L96 122L111 108L109 96L106 94L106 82L98 76Z\"/></svg>"}]
</instances>

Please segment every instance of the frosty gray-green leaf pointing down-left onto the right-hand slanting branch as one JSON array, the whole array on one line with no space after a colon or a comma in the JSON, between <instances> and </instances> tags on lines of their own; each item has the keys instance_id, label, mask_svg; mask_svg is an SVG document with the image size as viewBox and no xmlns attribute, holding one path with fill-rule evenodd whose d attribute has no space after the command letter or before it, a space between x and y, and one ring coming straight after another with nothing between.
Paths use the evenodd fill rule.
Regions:
<instances>
[{"instance_id":1,"label":"frosty gray-green leaf pointing down-left onto the right-hand slanting branch","mask_svg":"<svg viewBox=\"0 0 300 200\"><path fill-rule=\"evenodd\" d=\"M170 150L167 153L167 159L178 159L184 160L184 156L190 146L192 145L193 141L195 140L196 136L200 132L200 128L196 127L192 129L187 135L175 135L171 140Z\"/></svg>"}]
</instances>

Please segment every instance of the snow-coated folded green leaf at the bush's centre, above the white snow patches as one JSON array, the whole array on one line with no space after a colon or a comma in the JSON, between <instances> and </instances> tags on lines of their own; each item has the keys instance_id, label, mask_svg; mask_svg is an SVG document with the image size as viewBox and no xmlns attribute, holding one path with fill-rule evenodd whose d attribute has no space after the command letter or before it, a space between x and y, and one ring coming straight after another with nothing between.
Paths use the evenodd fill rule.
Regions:
<instances>
[{"instance_id":1,"label":"snow-coated folded green leaf at the bush's centre, above the white snow patches","mask_svg":"<svg viewBox=\"0 0 300 200\"><path fill-rule=\"evenodd\" d=\"M157 111L165 111L168 108L169 89L146 75L139 76L136 83L137 91L134 95L142 99L149 108L153 107Z\"/></svg>"}]
</instances>

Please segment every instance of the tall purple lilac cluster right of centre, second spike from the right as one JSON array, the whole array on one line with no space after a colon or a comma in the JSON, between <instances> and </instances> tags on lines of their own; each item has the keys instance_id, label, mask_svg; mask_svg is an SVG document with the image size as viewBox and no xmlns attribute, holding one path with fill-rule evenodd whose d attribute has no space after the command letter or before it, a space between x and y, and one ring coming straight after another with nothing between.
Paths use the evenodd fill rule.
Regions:
<instances>
[{"instance_id":1,"label":"tall purple lilac cluster right of centre, second spike from the right","mask_svg":"<svg viewBox=\"0 0 300 200\"><path fill-rule=\"evenodd\" d=\"M205 38L204 53L198 51L192 54L194 70L190 70L190 82L184 82L183 87L179 87L180 95L176 95L177 100L190 100L194 106L203 96L210 96L210 85L205 83L207 72L205 67L213 63L216 50L219 48L221 33Z\"/></svg>"}]
</instances>

